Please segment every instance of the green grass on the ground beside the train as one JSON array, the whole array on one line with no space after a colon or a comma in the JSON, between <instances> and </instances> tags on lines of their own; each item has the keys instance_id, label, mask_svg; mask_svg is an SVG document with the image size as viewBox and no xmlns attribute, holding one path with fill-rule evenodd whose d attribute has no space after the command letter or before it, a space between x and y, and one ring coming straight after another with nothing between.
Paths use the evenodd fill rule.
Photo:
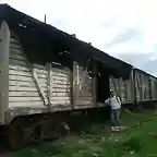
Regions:
<instances>
[{"instance_id":1,"label":"green grass on the ground beside the train","mask_svg":"<svg viewBox=\"0 0 157 157\"><path fill-rule=\"evenodd\" d=\"M110 133L94 125L90 134L67 137L12 153L9 157L157 157L157 113L124 110L121 124L128 131Z\"/></svg>"}]
</instances>

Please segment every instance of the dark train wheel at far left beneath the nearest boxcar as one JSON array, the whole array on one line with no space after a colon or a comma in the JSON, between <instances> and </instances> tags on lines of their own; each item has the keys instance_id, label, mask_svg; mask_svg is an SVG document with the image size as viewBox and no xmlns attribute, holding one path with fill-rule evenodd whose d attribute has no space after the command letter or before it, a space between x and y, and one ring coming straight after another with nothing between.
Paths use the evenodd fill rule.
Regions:
<instances>
[{"instance_id":1,"label":"dark train wheel at far left beneath the nearest boxcar","mask_svg":"<svg viewBox=\"0 0 157 157\"><path fill-rule=\"evenodd\" d=\"M9 144L12 149L20 149L24 146L24 129L17 123L13 122L9 125Z\"/></svg>"}]
</instances>

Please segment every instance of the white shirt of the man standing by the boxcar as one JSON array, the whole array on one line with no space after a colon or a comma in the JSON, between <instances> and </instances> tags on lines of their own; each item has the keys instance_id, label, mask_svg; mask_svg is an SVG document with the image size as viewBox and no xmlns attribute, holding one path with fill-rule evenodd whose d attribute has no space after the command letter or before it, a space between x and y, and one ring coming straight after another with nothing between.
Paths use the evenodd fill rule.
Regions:
<instances>
[{"instance_id":1,"label":"white shirt of the man standing by the boxcar","mask_svg":"<svg viewBox=\"0 0 157 157\"><path fill-rule=\"evenodd\" d=\"M111 109L120 109L121 108L121 100L117 96L109 97L107 100L105 100L105 102L109 104L111 106Z\"/></svg>"}]
</instances>

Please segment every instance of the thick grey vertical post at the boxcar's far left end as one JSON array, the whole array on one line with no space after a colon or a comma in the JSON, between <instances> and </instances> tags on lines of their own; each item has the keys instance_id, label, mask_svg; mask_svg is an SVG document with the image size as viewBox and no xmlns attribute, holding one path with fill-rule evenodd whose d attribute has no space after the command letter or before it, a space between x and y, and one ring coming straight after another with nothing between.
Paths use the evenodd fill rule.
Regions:
<instances>
[{"instance_id":1,"label":"thick grey vertical post at the boxcar's far left end","mask_svg":"<svg viewBox=\"0 0 157 157\"><path fill-rule=\"evenodd\" d=\"M3 21L0 26L0 123L4 123L4 110L9 107L9 45L10 31Z\"/></svg>"}]
</instances>

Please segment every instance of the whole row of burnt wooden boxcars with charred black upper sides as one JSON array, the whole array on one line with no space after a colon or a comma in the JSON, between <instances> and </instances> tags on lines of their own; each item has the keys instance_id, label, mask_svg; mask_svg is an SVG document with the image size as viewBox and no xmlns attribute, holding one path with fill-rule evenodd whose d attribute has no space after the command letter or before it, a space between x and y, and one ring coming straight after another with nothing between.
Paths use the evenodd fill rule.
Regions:
<instances>
[{"instance_id":1,"label":"whole row of burnt wooden boxcars with charred black upper sides","mask_svg":"<svg viewBox=\"0 0 157 157\"><path fill-rule=\"evenodd\" d=\"M0 123L12 147L55 136L68 114L157 99L156 77L8 4L0 4Z\"/></svg>"}]
</instances>

